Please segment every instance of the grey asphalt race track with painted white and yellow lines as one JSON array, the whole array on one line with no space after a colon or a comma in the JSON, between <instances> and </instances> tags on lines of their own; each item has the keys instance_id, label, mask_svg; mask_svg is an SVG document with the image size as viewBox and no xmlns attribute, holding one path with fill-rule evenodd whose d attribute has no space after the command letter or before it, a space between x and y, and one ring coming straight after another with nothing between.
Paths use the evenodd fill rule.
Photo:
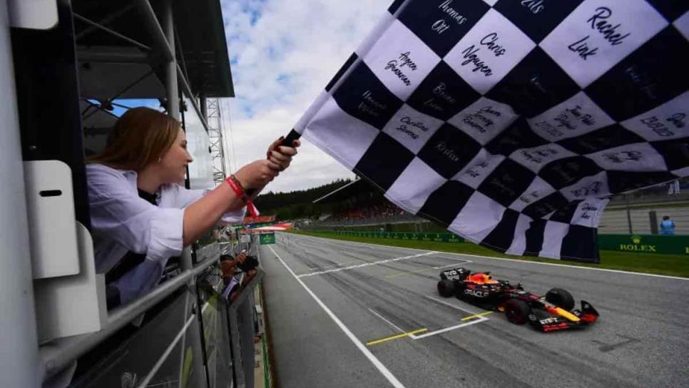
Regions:
<instances>
[{"instance_id":1,"label":"grey asphalt race track with painted white and yellow lines","mask_svg":"<svg viewBox=\"0 0 689 388\"><path fill-rule=\"evenodd\" d=\"M260 260L277 387L689 387L686 279L285 233ZM471 317L486 310L436 290L460 266L601 317L548 334Z\"/></svg>"}]
</instances>

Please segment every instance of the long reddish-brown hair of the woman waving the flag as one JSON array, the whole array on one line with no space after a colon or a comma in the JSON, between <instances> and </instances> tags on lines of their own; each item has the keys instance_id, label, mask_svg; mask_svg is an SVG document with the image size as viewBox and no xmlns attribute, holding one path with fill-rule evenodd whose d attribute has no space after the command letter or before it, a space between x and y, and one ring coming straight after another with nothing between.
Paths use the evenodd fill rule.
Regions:
<instances>
[{"instance_id":1,"label":"long reddish-brown hair of the woman waving the flag","mask_svg":"<svg viewBox=\"0 0 689 388\"><path fill-rule=\"evenodd\" d=\"M181 128L179 121L164 113L151 108L131 108L118 118L103 153L88 162L141 171L168 152Z\"/></svg>"}]
</instances>

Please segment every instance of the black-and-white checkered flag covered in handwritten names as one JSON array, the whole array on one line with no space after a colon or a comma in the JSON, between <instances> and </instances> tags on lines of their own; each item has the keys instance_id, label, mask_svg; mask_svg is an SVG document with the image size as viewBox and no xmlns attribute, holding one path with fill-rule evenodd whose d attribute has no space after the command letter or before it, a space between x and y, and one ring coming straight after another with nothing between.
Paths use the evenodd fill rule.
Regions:
<instances>
[{"instance_id":1,"label":"black-and-white checkered flag covered in handwritten names","mask_svg":"<svg viewBox=\"0 0 689 388\"><path fill-rule=\"evenodd\" d=\"M598 262L608 196L689 175L689 2L398 0L295 131L410 213Z\"/></svg>"}]
</instances>

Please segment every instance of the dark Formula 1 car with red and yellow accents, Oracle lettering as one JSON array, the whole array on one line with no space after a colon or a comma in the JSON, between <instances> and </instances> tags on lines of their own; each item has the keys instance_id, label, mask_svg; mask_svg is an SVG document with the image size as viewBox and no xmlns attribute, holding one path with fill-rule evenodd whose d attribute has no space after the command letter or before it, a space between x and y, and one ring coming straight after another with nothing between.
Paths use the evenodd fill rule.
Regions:
<instances>
[{"instance_id":1,"label":"dark Formula 1 car with red and yellow accents, Oracle lettering","mask_svg":"<svg viewBox=\"0 0 689 388\"><path fill-rule=\"evenodd\" d=\"M494 279L490 272L472 274L466 268L443 271L438 292L442 297L454 295L486 310L504 312L509 322L529 322L541 332L584 327L598 319L598 312L586 301L581 301L581 310L572 310L574 299L566 290L553 288L545 296L535 295L524 291L521 282L511 285L507 280Z\"/></svg>"}]
</instances>

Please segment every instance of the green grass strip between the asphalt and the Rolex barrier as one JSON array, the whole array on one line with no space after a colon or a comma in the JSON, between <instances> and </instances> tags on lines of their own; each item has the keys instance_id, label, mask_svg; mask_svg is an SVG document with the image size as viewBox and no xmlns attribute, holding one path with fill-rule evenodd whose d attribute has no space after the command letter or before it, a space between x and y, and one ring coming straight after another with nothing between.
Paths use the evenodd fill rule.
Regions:
<instances>
[{"instance_id":1,"label":"green grass strip between the asphalt and the Rolex barrier","mask_svg":"<svg viewBox=\"0 0 689 388\"><path fill-rule=\"evenodd\" d=\"M312 232L307 230L290 230L290 233L309 235L314 237L332 238L333 240L345 240L355 242L369 242L371 244L389 245L392 247L416 248L422 250L436 250L438 252L467 253L490 257L503 257L514 260L551 262L557 264L576 265L578 267L605 268L606 270L621 270L629 272L650 273L654 275L668 275L689 277L689 256L683 255L658 255L655 253L618 252L615 250L601 250L600 264L586 264L564 260L544 259L541 257L524 257L504 255L494 250L481 247L470 242L433 242L392 240L387 238L364 238L354 236L336 235L327 232Z\"/></svg>"}]
</instances>

